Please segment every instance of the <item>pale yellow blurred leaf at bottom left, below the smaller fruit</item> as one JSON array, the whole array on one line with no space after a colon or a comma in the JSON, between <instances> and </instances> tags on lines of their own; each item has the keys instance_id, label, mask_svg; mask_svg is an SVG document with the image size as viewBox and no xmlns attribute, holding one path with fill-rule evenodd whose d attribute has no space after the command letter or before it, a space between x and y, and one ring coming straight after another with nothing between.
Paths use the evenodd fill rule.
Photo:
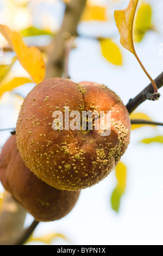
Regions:
<instances>
[{"instance_id":1,"label":"pale yellow blurred leaf at bottom left, below the smaller fruit","mask_svg":"<svg viewBox=\"0 0 163 256\"><path fill-rule=\"evenodd\" d=\"M45 236L40 236L40 237L33 237L33 235L28 239L28 241L26 241L26 243L29 242L42 242L42 243L46 243L47 245L51 245L53 239L57 238L57 237L61 237L62 239L66 239L66 237L62 234L54 234L54 233L50 233L47 234Z\"/></svg>"}]
</instances>

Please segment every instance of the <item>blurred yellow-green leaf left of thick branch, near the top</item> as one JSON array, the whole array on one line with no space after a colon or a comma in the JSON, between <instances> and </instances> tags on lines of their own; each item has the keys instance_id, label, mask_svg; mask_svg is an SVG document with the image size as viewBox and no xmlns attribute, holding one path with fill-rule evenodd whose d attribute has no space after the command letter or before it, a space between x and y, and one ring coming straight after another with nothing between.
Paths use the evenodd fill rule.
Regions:
<instances>
[{"instance_id":1,"label":"blurred yellow-green leaf left of thick branch, near the top","mask_svg":"<svg viewBox=\"0 0 163 256\"><path fill-rule=\"evenodd\" d=\"M22 31L20 31L20 33L23 35L23 37L33 37L36 35L52 35L51 31L46 31L36 27L25 28Z\"/></svg>"}]
</instances>

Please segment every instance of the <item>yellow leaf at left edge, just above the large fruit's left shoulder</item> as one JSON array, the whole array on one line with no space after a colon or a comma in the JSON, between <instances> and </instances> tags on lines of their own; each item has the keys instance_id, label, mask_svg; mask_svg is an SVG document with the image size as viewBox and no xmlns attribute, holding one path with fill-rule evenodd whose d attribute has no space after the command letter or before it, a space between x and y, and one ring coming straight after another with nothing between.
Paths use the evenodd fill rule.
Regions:
<instances>
[{"instance_id":1,"label":"yellow leaf at left edge, just above the large fruit's left shoulder","mask_svg":"<svg viewBox=\"0 0 163 256\"><path fill-rule=\"evenodd\" d=\"M28 82L32 82L32 80L30 80L29 78L14 78L11 81L9 81L7 84L2 83L0 85L0 97L2 96L2 94L4 92L11 91L14 88L16 88L20 85L26 84Z\"/></svg>"}]
</instances>

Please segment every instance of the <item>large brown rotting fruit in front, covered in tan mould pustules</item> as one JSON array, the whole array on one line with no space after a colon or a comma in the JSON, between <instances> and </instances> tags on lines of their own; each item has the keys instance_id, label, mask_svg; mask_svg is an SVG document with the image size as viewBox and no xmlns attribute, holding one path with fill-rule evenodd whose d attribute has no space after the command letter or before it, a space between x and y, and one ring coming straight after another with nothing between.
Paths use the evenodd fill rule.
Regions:
<instances>
[{"instance_id":1,"label":"large brown rotting fruit in front, covered in tan mould pustules","mask_svg":"<svg viewBox=\"0 0 163 256\"><path fill-rule=\"evenodd\" d=\"M54 130L53 111L64 114L65 106L81 115L83 110L111 111L111 134ZM16 138L24 163L37 177L57 189L76 191L95 185L115 168L129 144L130 118L106 86L53 78L35 86L24 100Z\"/></svg>"}]
</instances>

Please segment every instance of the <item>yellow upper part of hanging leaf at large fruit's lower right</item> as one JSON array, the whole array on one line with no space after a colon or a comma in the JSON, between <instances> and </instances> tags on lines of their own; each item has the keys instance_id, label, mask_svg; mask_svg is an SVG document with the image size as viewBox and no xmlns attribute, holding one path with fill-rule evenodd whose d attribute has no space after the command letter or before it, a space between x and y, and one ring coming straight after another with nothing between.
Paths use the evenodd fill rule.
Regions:
<instances>
[{"instance_id":1,"label":"yellow upper part of hanging leaf at large fruit's lower right","mask_svg":"<svg viewBox=\"0 0 163 256\"><path fill-rule=\"evenodd\" d=\"M122 162L116 167L117 187L123 194L126 190L127 167Z\"/></svg>"}]
</instances>

